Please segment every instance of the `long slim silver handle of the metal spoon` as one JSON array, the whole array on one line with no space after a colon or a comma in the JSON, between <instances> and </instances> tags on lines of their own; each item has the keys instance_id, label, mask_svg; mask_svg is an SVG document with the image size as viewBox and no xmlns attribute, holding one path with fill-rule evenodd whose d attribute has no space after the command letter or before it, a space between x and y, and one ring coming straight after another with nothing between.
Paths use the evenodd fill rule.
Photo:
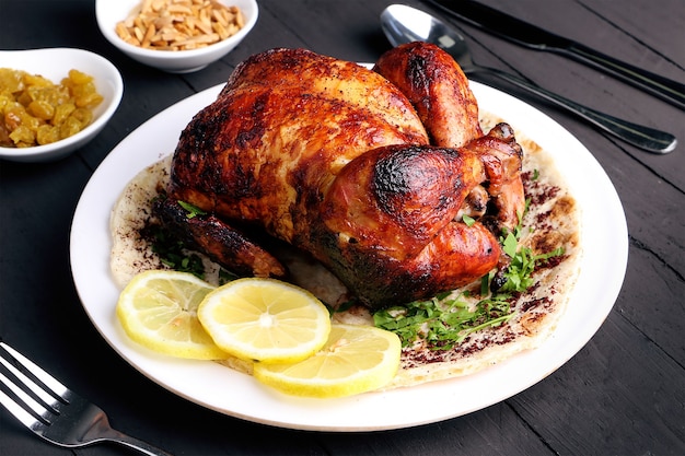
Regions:
<instances>
[{"instance_id":1,"label":"long slim silver handle of the metal spoon","mask_svg":"<svg viewBox=\"0 0 685 456\"><path fill-rule=\"evenodd\" d=\"M664 154L673 151L677 144L676 138L671 133L655 130L642 125L632 124L627 120L609 116L608 114L591 109L587 106L579 105L576 102L519 79L504 71L486 67L469 68L471 74L478 72L491 74L503 81L518 85L519 87L531 91L532 93L568 109L579 117L582 117L594 126L600 127L602 130L646 151Z\"/></svg>"}]
</instances>

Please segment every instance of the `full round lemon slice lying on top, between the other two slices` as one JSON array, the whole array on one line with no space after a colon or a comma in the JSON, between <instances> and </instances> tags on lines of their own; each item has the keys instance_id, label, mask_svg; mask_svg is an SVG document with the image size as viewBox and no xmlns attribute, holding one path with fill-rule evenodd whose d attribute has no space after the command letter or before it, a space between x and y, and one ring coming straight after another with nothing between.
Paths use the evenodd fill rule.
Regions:
<instances>
[{"instance_id":1,"label":"full round lemon slice lying on top, between the other two slices","mask_svg":"<svg viewBox=\"0 0 685 456\"><path fill-rule=\"evenodd\" d=\"M330 331L321 301L274 279L237 279L219 287L197 316L217 346L243 360L300 361L321 349Z\"/></svg>"}]
</instances>

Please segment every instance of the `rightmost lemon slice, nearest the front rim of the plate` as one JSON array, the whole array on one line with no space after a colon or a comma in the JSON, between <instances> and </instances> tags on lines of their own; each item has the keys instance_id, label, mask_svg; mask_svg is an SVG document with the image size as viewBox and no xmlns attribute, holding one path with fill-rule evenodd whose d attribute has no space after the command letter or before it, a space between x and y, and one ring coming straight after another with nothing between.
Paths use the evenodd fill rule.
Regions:
<instances>
[{"instance_id":1,"label":"rightmost lemon slice, nearest the front rim of the plate","mask_svg":"<svg viewBox=\"0 0 685 456\"><path fill-rule=\"evenodd\" d=\"M256 363L259 382L293 396L351 396L386 385L399 369L397 335L373 326L334 324L324 348L294 364Z\"/></svg>"}]
</instances>

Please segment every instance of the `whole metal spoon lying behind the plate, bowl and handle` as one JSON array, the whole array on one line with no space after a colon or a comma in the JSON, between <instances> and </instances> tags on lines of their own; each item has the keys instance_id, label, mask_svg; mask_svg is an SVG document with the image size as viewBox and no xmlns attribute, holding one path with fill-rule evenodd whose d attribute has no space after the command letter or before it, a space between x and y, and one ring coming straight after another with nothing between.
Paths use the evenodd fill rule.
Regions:
<instances>
[{"instance_id":1,"label":"whole metal spoon lying behind the plate, bowl and handle","mask_svg":"<svg viewBox=\"0 0 685 456\"><path fill-rule=\"evenodd\" d=\"M649 152L665 154L675 149L677 140L671 133L631 124L579 105L495 68L474 63L464 37L453 27L432 15L404 4L391 4L381 13L381 26L393 46L411 42L428 42L440 46L458 62L466 74L489 74L525 89L580 116L604 131Z\"/></svg>"}]
</instances>

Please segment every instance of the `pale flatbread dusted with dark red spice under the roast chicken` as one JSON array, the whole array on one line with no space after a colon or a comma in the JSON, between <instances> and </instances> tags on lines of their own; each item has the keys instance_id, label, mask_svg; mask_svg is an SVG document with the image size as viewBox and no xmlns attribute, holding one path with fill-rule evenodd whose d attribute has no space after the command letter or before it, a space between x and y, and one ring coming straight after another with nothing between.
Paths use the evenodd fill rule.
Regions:
<instances>
[{"instance_id":1,"label":"pale flatbread dusted with dark red spice under the roast chicken","mask_svg":"<svg viewBox=\"0 0 685 456\"><path fill-rule=\"evenodd\" d=\"M501 121L484 115L484 131ZM523 172L526 198L531 204L523 220L527 230L520 244L534 253L548 253L562 247L565 254L550 266L534 273L535 283L514 303L515 315L506 324L487 328L468 336L450 350L433 350L418 342L403 349L400 369L385 389L406 387L468 375L494 365L515 353L535 349L557 326L568 304L570 292L579 273L582 256L580 208L569 192L567 183L555 166L552 155L538 144L516 133L524 150ZM144 270L165 269L150 243L140 231L150 223L151 201L169 182L171 156L142 169L126 187L112 211L112 274L121 289L130 279ZM206 280L219 283L219 267L199 254L206 265ZM345 287L316 261L288 253L281 260L290 270L290 281L303 287L328 304L348 300ZM474 289L479 283L456 290ZM475 300L474 300L475 303ZM341 323L372 325L370 313L352 307L334 314ZM252 364L237 359L221 363L252 374Z\"/></svg>"}]
</instances>

